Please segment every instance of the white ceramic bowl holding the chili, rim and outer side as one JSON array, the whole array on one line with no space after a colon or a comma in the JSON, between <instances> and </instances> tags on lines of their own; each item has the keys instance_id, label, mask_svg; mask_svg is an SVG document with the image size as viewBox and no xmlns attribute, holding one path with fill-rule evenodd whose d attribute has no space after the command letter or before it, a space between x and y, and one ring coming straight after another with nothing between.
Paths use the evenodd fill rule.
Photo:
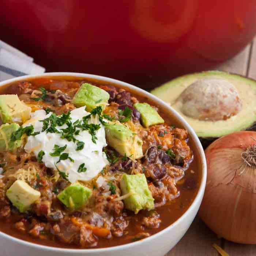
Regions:
<instances>
[{"instance_id":1,"label":"white ceramic bowl holding the chili, rim and outer side","mask_svg":"<svg viewBox=\"0 0 256 256\"><path fill-rule=\"evenodd\" d=\"M1 248L1 256L65 256L65 255L92 255L92 256L113 256L113 255L122 255L122 256L130 256L136 254L136 256L146 256L146 255L154 255L154 256L163 256L170 249L173 248L174 245L184 236L185 232L188 230L191 225L193 219L196 216L196 213L199 209L199 206L202 202L204 188L206 185L206 159L204 156L203 148L200 144L199 139L197 138L193 129L189 126L189 124L170 106L164 103L162 100L158 99L154 95L139 89L138 87L132 86L131 84L124 83L115 79L106 78L103 76L89 75L89 74L81 74L81 73L68 73L68 72L54 72L54 73L45 73L41 75L28 75L21 76L19 78L13 78L6 80L0 83L0 87L5 84L18 82L19 80L31 79L31 78L39 78L44 76L76 76L78 78L88 78L88 79L96 79L101 80L102 82L114 83L118 84L121 87L126 87L129 90L143 94L156 105L160 106L160 108L164 109L166 112L169 112L171 116L173 116L178 122L187 129L188 133L191 135L193 142L196 145L197 155L200 158L200 165L202 166L202 181L200 184L199 191L197 196L188 210L172 225L167 227L166 229L150 236L146 239L132 242L126 245L114 246L103 249L61 249L54 248L49 246L42 246L38 244L33 244L30 242L26 242L23 240L19 240L15 237L11 237L7 234L0 232L0 248ZM195 154L196 152L194 152Z\"/></svg>"}]
</instances>

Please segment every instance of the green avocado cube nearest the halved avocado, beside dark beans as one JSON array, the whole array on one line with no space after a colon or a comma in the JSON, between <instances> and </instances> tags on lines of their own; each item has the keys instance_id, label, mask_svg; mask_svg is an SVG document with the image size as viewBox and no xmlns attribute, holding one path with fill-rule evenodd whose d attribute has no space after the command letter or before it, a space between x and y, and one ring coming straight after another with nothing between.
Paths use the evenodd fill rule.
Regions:
<instances>
[{"instance_id":1,"label":"green avocado cube nearest the halved avocado, beside dark beans","mask_svg":"<svg viewBox=\"0 0 256 256\"><path fill-rule=\"evenodd\" d=\"M152 108L148 103L135 103L133 106L140 112L142 125L145 128L165 122L163 118L159 116L157 110Z\"/></svg>"}]
</instances>

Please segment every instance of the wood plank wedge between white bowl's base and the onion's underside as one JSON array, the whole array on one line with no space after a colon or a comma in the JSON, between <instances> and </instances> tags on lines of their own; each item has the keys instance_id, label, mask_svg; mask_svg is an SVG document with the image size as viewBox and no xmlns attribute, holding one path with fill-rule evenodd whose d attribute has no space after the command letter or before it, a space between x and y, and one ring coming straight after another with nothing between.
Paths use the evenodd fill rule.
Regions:
<instances>
[{"instance_id":1,"label":"wood plank wedge between white bowl's base and the onion's underside","mask_svg":"<svg viewBox=\"0 0 256 256\"><path fill-rule=\"evenodd\" d=\"M166 256L217 256L213 243L220 246L221 239L196 216L185 236Z\"/></svg>"}]
</instances>

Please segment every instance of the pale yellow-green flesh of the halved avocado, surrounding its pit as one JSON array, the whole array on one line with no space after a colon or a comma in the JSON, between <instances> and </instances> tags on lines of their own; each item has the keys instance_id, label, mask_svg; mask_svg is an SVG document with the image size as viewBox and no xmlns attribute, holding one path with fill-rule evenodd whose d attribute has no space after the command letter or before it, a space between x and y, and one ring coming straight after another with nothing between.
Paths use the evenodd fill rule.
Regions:
<instances>
[{"instance_id":1,"label":"pale yellow-green flesh of the halved avocado, surrounding its pit","mask_svg":"<svg viewBox=\"0 0 256 256\"><path fill-rule=\"evenodd\" d=\"M185 116L177 106L176 100L190 84L203 78L225 79L233 84L242 100L241 111L235 116L219 121L196 120ZM205 140L214 140L215 138L217 139L235 131L250 129L256 122L256 81L239 75L221 71L206 71L189 74L173 79L152 90L151 93L179 112L181 116L188 121L197 136Z\"/></svg>"}]
</instances>

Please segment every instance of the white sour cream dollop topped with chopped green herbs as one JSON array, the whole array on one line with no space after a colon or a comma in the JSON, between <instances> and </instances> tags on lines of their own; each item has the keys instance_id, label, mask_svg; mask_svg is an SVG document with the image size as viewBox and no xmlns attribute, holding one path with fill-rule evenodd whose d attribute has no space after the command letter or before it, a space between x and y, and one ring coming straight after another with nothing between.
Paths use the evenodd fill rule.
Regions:
<instances>
[{"instance_id":1,"label":"white sour cream dollop topped with chopped green herbs","mask_svg":"<svg viewBox=\"0 0 256 256\"><path fill-rule=\"evenodd\" d=\"M82 120L84 116L87 116L88 112L84 110L85 108L77 108L71 111L71 122L74 123L76 120ZM96 131L96 143L92 141L92 136L88 131L82 131L81 128L79 135L74 137L81 142L84 142L84 148L82 150L76 151L77 145L73 141L68 141L67 139L61 139L60 133L46 133L42 131L43 122L39 120L44 120L48 118L52 113L46 114L45 110L37 110L31 113L31 119L28 120L23 126L34 126L34 132L40 132L35 136L28 136L27 143L25 145L25 150L27 152L34 152L37 156L42 150L45 155L42 157L42 162L46 167L56 170L57 168L68 175L68 180L70 182L75 182L76 180L88 181L97 176L99 172L105 167L109 162L106 159L105 153L102 151L103 147L107 146L105 138L105 129L100 124L100 128ZM90 117L88 123L99 124L97 118ZM57 130L61 131L63 128L67 128L67 125L57 126ZM61 152L68 153L69 157L74 160L71 162L69 159L61 160L59 163L59 157L52 157L49 153L52 153L54 145L59 147L64 147L67 145L66 149ZM79 166L84 163L83 167L86 167L86 172L78 172Z\"/></svg>"}]
</instances>

